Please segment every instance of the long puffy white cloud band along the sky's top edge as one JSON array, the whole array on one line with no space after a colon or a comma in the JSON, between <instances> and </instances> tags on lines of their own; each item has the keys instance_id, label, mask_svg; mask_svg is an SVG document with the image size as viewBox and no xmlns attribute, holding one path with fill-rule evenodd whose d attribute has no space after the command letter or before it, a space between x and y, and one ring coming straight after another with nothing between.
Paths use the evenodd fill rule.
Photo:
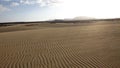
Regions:
<instances>
[{"instance_id":1,"label":"long puffy white cloud band along the sky's top edge","mask_svg":"<svg viewBox=\"0 0 120 68\"><path fill-rule=\"evenodd\" d=\"M15 7L19 5L40 5L43 6L53 6L56 3L59 3L60 0L3 0L4 2L9 2L10 6Z\"/></svg>"}]
</instances>

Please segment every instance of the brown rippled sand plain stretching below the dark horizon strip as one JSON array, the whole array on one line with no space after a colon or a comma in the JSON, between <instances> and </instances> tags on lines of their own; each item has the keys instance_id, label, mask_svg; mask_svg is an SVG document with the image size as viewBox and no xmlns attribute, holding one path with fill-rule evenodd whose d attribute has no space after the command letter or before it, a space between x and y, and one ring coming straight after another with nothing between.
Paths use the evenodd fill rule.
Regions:
<instances>
[{"instance_id":1,"label":"brown rippled sand plain stretching below the dark horizon strip","mask_svg":"<svg viewBox=\"0 0 120 68\"><path fill-rule=\"evenodd\" d=\"M0 68L120 68L120 22L0 27Z\"/></svg>"}]
</instances>

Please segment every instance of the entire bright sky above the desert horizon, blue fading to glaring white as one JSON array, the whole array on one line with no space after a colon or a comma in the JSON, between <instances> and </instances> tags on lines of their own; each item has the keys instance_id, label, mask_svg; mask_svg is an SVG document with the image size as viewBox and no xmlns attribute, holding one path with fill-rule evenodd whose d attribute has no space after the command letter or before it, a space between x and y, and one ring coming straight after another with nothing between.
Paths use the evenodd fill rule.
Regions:
<instances>
[{"instance_id":1,"label":"entire bright sky above the desert horizon, blue fading to glaring white","mask_svg":"<svg viewBox=\"0 0 120 68\"><path fill-rule=\"evenodd\" d=\"M0 0L0 22L120 18L119 0Z\"/></svg>"}]
</instances>

